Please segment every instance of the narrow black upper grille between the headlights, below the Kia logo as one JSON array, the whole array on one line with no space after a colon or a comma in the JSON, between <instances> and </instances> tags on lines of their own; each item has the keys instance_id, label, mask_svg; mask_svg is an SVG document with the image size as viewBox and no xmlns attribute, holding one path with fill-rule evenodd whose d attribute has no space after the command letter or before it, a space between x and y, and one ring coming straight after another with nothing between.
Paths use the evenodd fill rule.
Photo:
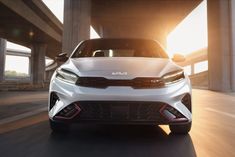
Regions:
<instances>
[{"instance_id":1,"label":"narrow black upper grille between the headlights, below the Kia logo","mask_svg":"<svg viewBox=\"0 0 235 157\"><path fill-rule=\"evenodd\" d=\"M110 80L103 77L79 77L77 83L79 86L107 88L109 86L130 86L133 88L159 88L164 86L160 78L146 77L135 78L132 80Z\"/></svg>"}]
</instances>

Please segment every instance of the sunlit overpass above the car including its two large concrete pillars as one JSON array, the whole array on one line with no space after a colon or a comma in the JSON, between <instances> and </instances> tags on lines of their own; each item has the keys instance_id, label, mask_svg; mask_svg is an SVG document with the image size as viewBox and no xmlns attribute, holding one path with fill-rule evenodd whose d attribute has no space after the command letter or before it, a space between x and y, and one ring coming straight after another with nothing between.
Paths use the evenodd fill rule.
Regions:
<instances>
[{"instance_id":1,"label":"sunlit overpass above the car including its two large concrete pillars","mask_svg":"<svg viewBox=\"0 0 235 157\"><path fill-rule=\"evenodd\" d=\"M101 37L166 37L201 0L66 0L63 51L89 38L92 25ZM235 1L207 0L208 87L235 91ZM200 32L198 32L200 33ZM185 45L187 46L187 45Z\"/></svg>"}]
</instances>

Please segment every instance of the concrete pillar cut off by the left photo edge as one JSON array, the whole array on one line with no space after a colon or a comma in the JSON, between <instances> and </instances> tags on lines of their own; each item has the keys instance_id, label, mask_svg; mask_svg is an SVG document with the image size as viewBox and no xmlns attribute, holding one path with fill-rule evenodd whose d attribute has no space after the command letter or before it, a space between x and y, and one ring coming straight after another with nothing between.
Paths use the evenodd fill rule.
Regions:
<instances>
[{"instance_id":1,"label":"concrete pillar cut off by the left photo edge","mask_svg":"<svg viewBox=\"0 0 235 157\"><path fill-rule=\"evenodd\" d=\"M4 79L6 43L5 39L0 38L0 82Z\"/></svg>"}]
</instances>

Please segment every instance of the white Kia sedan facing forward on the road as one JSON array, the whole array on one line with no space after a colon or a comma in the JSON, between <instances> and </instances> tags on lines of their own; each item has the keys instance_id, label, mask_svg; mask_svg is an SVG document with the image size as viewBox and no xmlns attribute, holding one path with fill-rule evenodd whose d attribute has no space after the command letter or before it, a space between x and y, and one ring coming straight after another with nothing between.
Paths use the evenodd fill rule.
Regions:
<instances>
[{"instance_id":1,"label":"white Kia sedan facing forward on the road","mask_svg":"<svg viewBox=\"0 0 235 157\"><path fill-rule=\"evenodd\" d=\"M184 58L177 55L174 61ZM71 123L169 125L191 129L191 85L183 69L154 40L81 42L53 74L49 119L53 131Z\"/></svg>"}]
</instances>

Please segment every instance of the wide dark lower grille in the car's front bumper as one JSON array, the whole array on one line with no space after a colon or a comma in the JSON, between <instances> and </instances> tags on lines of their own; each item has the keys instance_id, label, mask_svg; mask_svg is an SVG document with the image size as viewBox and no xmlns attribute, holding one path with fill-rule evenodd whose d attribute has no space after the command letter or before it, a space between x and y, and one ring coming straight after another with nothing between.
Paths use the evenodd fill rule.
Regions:
<instances>
[{"instance_id":1,"label":"wide dark lower grille in the car's front bumper","mask_svg":"<svg viewBox=\"0 0 235 157\"><path fill-rule=\"evenodd\" d=\"M165 122L159 111L166 104L161 102L82 101L77 104L81 108L78 120Z\"/></svg>"}]
</instances>

